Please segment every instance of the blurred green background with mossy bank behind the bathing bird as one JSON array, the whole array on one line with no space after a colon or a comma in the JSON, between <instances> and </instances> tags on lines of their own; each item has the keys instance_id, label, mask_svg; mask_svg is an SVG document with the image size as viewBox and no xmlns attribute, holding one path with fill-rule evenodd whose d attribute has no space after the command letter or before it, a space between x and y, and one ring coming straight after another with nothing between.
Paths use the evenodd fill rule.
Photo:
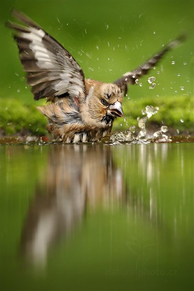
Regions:
<instances>
[{"instance_id":1,"label":"blurred green background with mossy bank behind the bathing bird","mask_svg":"<svg viewBox=\"0 0 194 291\"><path fill-rule=\"evenodd\" d=\"M35 122L35 128L38 128L36 123L44 124L46 121L40 114L35 113L32 104L38 105L38 102L43 101L33 101L30 87L26 86L12 32L4 26L7 19L12 19L9 13L12 7L30 16L62 43L81 65L86 78L106 82L114 81L123 73L134 69L161 49L163 44L183 32L186 33L185 43L169 52L156 69L141 80L142 87L129 87L130 99L125 99L124 113L135 119L143 109L141 100L151 103L152 99L156 105L164 100L163 106L168 98L166 101L170 100L170 105L166 110L173 107L178 100L178 111L175 108L169 119L172 119L172 123L173 120L177 122L177 127L192 128L193 112L189 112L187 107L193 107L194 96L193 0L0 1L0 125L5 128L5 123L16 123L17 120L19 124L19 119L23 116L23 123L25 120L28 124ZM174 65L172 61L175 62ZM147 82L150 76L156 77L156 87L153 90L149 89ZM130 108L136 110L134 102L137 102L139 112L132 116ZM27 105L27 109L30 106L30 111L25 111L26 107L21 111L20 104ZM165 119L165 107L161 118ZM185 121L184 125L179 121L181 118ZM166 119L165 122L167 121ZM118 124L123 126L123 121L118 120L117 128Z\"/></svg>"}]
</instances>

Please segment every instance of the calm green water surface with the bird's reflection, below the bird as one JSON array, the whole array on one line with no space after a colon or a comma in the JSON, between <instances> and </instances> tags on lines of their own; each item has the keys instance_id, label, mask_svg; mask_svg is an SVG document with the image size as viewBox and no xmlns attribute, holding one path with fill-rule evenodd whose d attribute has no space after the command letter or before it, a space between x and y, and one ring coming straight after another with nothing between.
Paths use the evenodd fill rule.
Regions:
<instances>
[{"instance_id":1,"label":"calm green water surface with the bird's reflection, below the bird","mask_svg":"<svg viewBox=\"0 0 194 291\"><path fill-rule=\"evenodd\" d=\"M1 290L192 290L193 158L193 143L1 145Z\"/></svg>"}]
</instances>

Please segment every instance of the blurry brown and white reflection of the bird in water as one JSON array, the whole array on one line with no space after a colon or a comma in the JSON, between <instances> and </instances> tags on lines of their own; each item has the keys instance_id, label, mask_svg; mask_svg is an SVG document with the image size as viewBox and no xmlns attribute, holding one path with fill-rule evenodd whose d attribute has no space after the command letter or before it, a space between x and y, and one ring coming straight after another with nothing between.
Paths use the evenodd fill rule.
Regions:
<instances>
[{"instance_id":1,"label":"blurry brown and white reflection of the bird in water","mask_svg":"<svg viewBox=\"0 0 194 291\"><path fill-rule=\"evenodd\" d=\"M122 203L123 185L110 146L50 146L45 177L36 186L24 225L22 253L44 266L50 247L72 233L87 209Z\"/></svg>"}]
</instances>

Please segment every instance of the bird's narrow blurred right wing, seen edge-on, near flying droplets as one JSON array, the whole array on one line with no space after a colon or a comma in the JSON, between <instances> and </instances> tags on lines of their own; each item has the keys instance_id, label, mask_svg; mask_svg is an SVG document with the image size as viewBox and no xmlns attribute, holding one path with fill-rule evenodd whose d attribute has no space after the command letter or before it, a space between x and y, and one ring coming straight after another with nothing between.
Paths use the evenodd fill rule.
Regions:
<instances>
[{"instance_id":1,"label":"bird's narrow blurred right wing, seen edge-on, near flying droplets","mask_svg":"<svg viewBox=\"0 0 194 291\"><path fill-rule=\"evenodd\" d=\"M134 85L135 80L139 79L141 76L146 75L148 71L158 63L158 61L162 58L162 56L169 51L178 46L185 39L184 35L181 35L174 41L171 41L164 49L160 50L158 53L153 55L150 59L148 59L145 63L138 66L135 70L131 72L125 73L121 78L114 81L114 83L127 94L127 83Z\"/></svg>"}]
</instances>

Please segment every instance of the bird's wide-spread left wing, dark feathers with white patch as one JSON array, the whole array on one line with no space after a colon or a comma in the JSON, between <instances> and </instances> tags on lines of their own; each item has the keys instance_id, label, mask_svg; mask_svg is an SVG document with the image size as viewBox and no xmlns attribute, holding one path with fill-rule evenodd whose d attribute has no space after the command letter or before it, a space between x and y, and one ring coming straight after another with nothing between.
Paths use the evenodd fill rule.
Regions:
<instances>
[{"instance_id":1,"label":"bird's wide-spread left wing, dark feathers with white patch","mask_svg":"<svg viewBox=\"0 0 194 291\"><path fill-rule=\"evenodd\" d=\"M16 31L14 38L34 99L52 99L66 95L83 97L83 71L71 54L28 16L15 9L12 14L26 24L23 26L11 21L6 23Z\"/></svg>"}]
</instances>

